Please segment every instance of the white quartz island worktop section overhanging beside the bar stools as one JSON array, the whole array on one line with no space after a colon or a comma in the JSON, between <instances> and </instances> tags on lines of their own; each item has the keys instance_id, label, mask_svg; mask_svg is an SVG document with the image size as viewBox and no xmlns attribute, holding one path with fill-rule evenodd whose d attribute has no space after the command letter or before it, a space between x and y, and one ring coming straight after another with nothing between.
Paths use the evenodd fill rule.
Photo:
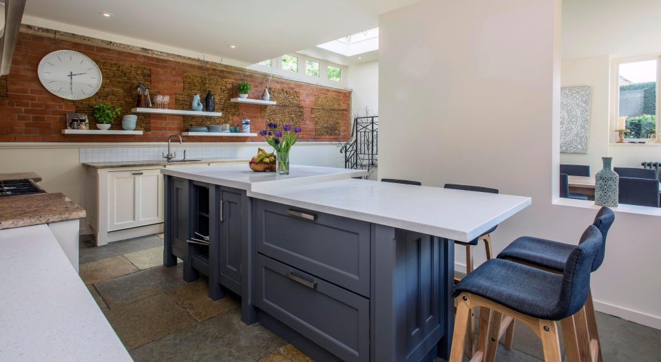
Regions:
<instances>
[{"instance_id":1,"label":"white quartz island worktop section overhanging beside the bar stools","mask_svg":"<svg viewBox=\"0 0 661 362\"><path fill-rule=\"evenodd\" d=\"M253 198L468 242L531 204L531 198L371 180L253 185Z\"/></svg>"}]
</instances>

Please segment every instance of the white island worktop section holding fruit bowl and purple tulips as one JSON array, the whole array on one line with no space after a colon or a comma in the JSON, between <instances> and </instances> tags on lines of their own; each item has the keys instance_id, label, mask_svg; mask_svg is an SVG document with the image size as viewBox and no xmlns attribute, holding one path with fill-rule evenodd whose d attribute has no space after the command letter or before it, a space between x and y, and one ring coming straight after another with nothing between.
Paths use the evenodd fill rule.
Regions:
<instances>
[{"instance_id":1,"label":"white island worktop section holding fruit bowl and purple tulips","mask_svg":"<svg viewBox=\"0 0 661 362\"><path fill-rule=\"evenodd\" d=\"M334 167L291 165L288 175L277 175L275 172L255 172L245 164L212 164L202 167L186 167L181 169L162 169L165 175L172 175L188 180L218 184L249 191L251 185L269 183L273 185L297 185L311 182L342 180L364 176L367 171L353 169L337 169Z\"/></svg>"}]
</instances>

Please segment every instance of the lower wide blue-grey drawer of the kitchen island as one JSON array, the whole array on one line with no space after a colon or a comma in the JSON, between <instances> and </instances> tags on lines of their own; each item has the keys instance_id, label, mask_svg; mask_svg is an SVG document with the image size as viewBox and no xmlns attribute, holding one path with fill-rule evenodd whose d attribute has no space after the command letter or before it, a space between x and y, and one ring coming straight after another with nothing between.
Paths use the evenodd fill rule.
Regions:
<instances>
[{"instance_id":1,"label":"lower wide blue-grey drawer of the kitchen island","mask_svg":"<svg viewBox=\"0 0 661 362\"><path fill-rule=\"evenodd\" d=\"M343 361L369 361L369 300L257 256L257 306Z\"/></svg>"}]
</instances>

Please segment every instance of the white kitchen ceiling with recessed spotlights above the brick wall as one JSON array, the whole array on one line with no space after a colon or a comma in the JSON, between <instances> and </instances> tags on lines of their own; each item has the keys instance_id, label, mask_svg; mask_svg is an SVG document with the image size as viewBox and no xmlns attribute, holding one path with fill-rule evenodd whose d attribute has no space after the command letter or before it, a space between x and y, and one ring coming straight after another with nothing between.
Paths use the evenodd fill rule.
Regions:
<instances>
[{"instance_id":1,"label":"white kitchen ceiling with recessed spotlights above the brick wall","mask_svg":"<svg viewBox=\"0 0 661 362\"><path fill-rule=\"evenodd\" d=\"M416 1L28 0L23 22L67 24L251 64L376 28L379 14Z\"/></svg>"}]
</instances>

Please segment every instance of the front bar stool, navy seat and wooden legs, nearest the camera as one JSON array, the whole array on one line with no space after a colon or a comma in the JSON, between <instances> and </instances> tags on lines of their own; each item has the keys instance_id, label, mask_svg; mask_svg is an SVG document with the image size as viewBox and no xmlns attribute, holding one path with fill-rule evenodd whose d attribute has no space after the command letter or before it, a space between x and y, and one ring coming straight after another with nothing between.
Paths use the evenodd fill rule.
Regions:
<instances>
[{"instance_id":1,"label":"front bar stool, navy seat and wooden legs, nearest the camera","mask_svg":"<svg viewBox=\"0 0 661 362\"><path fill-rule=\"evenodd\" d=\"M560 362L558 321L565 334L569 361L580 361L575 328L577 312L583 309L590 288L594 257L600 253L602 235L590 225L571 251L563 274L549 273L505 259L491 259L466 275L454 286L452 297L459 297L450 362L463 359L464 340L470 311L480 308L478 350L471 361L494 361L498 349L495 337L505 321L516 319L542 339L544 359ZM493 336L489 338L489 336Z\"/></svg>"}]
</instances>

